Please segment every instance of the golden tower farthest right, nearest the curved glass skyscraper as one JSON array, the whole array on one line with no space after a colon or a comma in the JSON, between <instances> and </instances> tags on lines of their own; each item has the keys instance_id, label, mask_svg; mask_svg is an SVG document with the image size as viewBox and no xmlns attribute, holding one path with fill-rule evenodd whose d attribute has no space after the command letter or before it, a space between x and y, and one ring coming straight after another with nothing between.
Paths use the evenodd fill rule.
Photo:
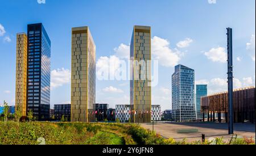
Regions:
<instances>
[{"instance_id":1,"label":"golden tower farthest right, nearest the curved glass skyscraper","mask_svg":"<svg viewBox=\"0 0 256 156\"><path fill-rule=\"evenodd\" d=\"M151 27L134 26L130 60L131 121L151 123Z\"/></svg>"}]
</instances>

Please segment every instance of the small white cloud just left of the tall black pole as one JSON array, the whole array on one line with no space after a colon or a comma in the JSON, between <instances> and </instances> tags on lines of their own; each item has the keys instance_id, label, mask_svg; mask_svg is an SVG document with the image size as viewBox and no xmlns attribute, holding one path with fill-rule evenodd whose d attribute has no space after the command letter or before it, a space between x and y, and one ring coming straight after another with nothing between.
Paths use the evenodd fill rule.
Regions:
<instances>
[{"instance_id":1,"label":"small white cloud just left of the tall black pole","mask_svg":"<svg viewBox=\"0 0 256 156\"><path fill-rule=\"evenodd\" d=\"M225 52L225 48L223 47L212 48L209 52L205 52L204 54L213 62L225 63L228 58L228 54Z\"/></svg>"}]
</instances>

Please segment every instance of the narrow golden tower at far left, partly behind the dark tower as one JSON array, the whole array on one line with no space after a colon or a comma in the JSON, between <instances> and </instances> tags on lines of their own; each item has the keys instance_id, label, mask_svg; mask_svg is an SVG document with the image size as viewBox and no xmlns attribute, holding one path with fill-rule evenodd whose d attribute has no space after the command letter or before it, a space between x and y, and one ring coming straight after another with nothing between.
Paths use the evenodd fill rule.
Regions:
<instances>
[{"instance_id":1,"label":"narrow golden tower at far left, partly behind the dark tower","mask_svg":"<svg viewBox=\"0 0 256 156\"><path fill-rule=\"evenodd\" d=\"M26 116L27 109L27 35L16 35L16 90L15 108L22 109L22 116Z\"/></svg>"}]
</instances>

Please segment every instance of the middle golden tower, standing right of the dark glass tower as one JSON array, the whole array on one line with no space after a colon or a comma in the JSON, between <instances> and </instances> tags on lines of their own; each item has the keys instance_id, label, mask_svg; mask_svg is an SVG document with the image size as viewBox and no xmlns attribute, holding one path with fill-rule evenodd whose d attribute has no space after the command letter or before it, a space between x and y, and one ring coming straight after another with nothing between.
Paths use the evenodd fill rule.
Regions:
<instances>
[{"instance_id":1,"label":"middle golden tower, standing right of the dark glass tower","mask_svg":"<svg viewBox=\"0 0 256 156\"><path fill-rule=\"evenodd\" d=\"M96 46L89 27L72 28L71 57L71 122L94 122Z\"/></svg>"}]
</instances>

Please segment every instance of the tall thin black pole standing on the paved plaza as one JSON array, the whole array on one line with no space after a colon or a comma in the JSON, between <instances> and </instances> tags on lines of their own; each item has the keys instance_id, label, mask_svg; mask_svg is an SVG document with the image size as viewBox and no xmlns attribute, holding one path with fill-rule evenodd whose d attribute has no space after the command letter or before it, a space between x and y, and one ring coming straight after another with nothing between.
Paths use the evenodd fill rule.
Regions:
<instances>
[{"instance_id":1,"label":"tall thin black pole standing on the paved plaza","mask_svg":"<svg viewBox=\"0 0 256 156\"><path fill-rule=\"evenodd\" d=\"M229 104L229 134L234 134L233 121L233 45L232 45L232 28L227 28L228 33L228 104Z\"/></svg>"}]
</instances>

